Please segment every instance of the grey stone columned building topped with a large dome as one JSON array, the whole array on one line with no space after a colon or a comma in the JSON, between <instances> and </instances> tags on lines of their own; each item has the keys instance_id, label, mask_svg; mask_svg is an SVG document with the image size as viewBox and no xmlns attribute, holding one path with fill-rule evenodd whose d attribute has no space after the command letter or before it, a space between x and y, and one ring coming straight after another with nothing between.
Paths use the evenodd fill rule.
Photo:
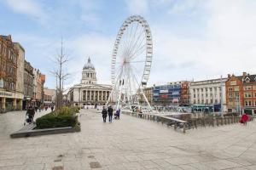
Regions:
<instances>
[{"instance_id":1,"label":"grey stone columned building topped with a large dome","mask_svg":"<svg viewBox=\"0 0 256 170\"><path fill-rule=\"evenodd\" d=\"M89 57L83 67L81 83L69 89L67 100L70 105L80 107L105 105L111 90L111 85L97 83L96 69Z\"/></svg>"}]
</instances>

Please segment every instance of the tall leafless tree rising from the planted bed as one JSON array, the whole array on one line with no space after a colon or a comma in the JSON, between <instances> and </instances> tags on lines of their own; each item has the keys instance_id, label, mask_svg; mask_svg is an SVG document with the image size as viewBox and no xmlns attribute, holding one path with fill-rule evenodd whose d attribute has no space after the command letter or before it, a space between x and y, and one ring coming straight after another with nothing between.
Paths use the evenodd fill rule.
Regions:
<instances>
[{"instance_id":1,"label":"tall leafless tree rising from the planted bed","mask_svg":"<svg viewBox=\"0 0 256 170\"><path fill-rule=\"evenodd\" d=\"M50 71L51 74L56 78L56 98L55 98L55 107L56 109L60 108L63 100L63 90L64 90L64 81L67 80L69 76L68 73L63 71L64 65L69 61L69 58L63 52L63 41L61 38L61 54L57 54L54 59L55 69Z\"/></svg>"}]
</instances>

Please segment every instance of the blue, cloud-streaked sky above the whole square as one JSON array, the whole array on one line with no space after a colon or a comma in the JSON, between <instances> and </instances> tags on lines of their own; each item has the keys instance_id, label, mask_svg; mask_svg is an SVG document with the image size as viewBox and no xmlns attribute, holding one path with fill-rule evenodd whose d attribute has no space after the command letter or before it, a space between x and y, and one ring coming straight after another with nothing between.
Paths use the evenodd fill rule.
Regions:
<instances>
[{"instance_id":1,"label":"blue, cloud-streaked sky above the whole square","mask_svg":"<svg viewBox=\"0 0 256 170\"><path fill-rule=\"evenodd\" d=\"M88 56L98 82L110 83L113 43L132 14L141 14L152 31L149 84L256 73L253 0L1 0L0 7L0 34L21 43L49 88L61 37L71 58L67 87L80 81Z\"/></svg>"}]
</instances>

